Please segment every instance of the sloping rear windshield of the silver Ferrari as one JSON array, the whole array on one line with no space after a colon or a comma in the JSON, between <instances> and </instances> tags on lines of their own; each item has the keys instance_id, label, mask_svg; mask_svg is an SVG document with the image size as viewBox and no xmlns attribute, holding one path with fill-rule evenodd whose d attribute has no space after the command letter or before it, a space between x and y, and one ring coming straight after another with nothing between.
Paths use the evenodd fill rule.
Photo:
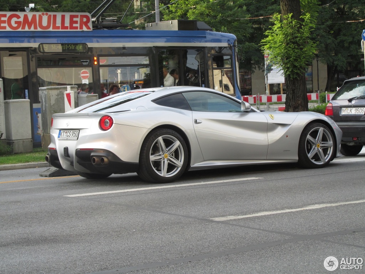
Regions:
<instances>
[{"instance_id":1,"label":"sloping rear windshield of the silver Ferrari","mask_svg":"<svg viewBox=\"0 0 365 274\"><path fill-rule=\"evenodd\" d=\"M127 108L118 107L122 104L127 102L133 101L135 99L141 98L143 96L149 95L153 93L153 91L126 91L121 92L116 95L108 96L105 100L97 100L95 103L89 106L82 106L78 108L75 112L76 113L98 113L98 112L105 112L105 113L116 113L127 111Z\"/></svg>"}]
</instances>

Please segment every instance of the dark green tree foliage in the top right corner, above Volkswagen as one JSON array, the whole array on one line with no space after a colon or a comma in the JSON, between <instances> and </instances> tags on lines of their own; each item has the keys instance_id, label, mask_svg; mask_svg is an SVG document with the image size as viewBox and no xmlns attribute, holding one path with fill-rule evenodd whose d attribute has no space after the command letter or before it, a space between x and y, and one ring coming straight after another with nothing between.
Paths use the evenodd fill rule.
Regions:
<instances>
[{"instance_id":1,"label":"dark green tree foliage in the top right corner, above Volkswagen","mask_svg":"<svg viewBox=\"0 0 365 274\"><path fill-rule=\"evenodd\" d=\"M364 56L360 52L364 14L364 0L320 0L314 39L320 62L327 64L328 91L336 74L346 71L349 64L355 64L351 69L364 72L364 62L360 62ZM340 84L338 81L337 86Z\"/></svg>"}]
</instances>

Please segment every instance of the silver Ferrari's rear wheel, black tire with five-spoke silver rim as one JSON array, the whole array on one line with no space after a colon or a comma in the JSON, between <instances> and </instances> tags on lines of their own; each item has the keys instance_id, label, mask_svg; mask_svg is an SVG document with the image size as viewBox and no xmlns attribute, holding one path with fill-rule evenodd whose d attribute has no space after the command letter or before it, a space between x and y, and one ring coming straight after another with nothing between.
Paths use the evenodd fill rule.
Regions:
<instances>
[{"instance_id":1,"label":"silver Ferrari's rear wheel, black tire with five-spoke silver rim","mask_svg":"<svg viewBox=\"0 0 365 274\"><path fill-rule=\"evenodd\" d=\"M156 129L143 141L137 174L146 182L171 183L183 175L187 164L183 137L171 129Z\"/></svg>"}]
</instances>

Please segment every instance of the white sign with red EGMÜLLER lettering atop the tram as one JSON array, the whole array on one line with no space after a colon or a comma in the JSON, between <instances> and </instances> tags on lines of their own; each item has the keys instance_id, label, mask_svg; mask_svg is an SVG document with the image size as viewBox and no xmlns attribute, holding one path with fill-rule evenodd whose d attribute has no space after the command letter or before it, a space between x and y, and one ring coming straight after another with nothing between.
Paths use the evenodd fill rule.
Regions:
<instances>
[{"instance_id":1,"label":"white sign with red EGM\u00dcLLER lettering atop the tram","mask_svg":"<svg viewBox=\"0 0 365 274\"><path fill-rule=\"evenodd\" d=\"M92 30L86 12L0 12L0 31Z\"/></svg>"}]
</instances>

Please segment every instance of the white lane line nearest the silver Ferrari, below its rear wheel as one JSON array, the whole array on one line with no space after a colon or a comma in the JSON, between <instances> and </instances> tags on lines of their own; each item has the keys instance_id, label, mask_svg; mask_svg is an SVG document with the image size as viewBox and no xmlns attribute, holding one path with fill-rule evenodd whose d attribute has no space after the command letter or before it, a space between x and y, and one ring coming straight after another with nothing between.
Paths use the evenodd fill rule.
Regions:
<instances>
[{"instance_id":1,"label":"white lane line nearest the silver Ferrari, below its rear wheel","mask_svg":"<svg viewBox=\"0 0 365 274\"><path fill-rule=\"evenodd\" d=\"M80 196L90 196L90 195L99 195L99 194L131 192L131 191L139 191L139 190L168 189L168 188L172 188L172 187L182 187L182 186L198 186L200 184L216 184L216 183L237 182L237 181L256 180L256 179L264 179L264 178L249 177L249 178L239 178L239 179L210 181L210 182L199 182L199 183L190 183L190 184L173 184L173 185L168 185L168 186L143 187L143 188L140 188L140 189L123 189L123 190L103 191L103 192L84 193L84 194L72 194L72 195L64 195L64 196L65 197L80 197Z\"/></svg>"}]
</instances>

